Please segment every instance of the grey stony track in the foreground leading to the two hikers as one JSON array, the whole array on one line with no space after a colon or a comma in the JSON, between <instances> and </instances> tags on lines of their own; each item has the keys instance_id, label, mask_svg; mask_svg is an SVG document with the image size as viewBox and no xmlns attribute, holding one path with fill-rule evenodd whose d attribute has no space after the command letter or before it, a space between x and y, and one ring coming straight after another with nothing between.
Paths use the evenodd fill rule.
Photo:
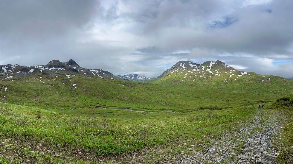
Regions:
<instances>
[{"instance_id":1,"label":"grey stony track in the foreground leading to the two hikers","mask_svg":"<svg viewBox=\"0 0 293 164\"><path fill-rule=\"evenodd\" d=\"M172 161L165 161L165 163L273 164L278 152L272 146L272 141L280 136L277 132L281 124L274 118L263 121L267 117L258 110L254 121L234 133L226 133L218 138L211 136L210 143L188 147L184 143L183 145L187 147L186 152L182 151L173 157Z\"/></svg>"}]
</instances>

